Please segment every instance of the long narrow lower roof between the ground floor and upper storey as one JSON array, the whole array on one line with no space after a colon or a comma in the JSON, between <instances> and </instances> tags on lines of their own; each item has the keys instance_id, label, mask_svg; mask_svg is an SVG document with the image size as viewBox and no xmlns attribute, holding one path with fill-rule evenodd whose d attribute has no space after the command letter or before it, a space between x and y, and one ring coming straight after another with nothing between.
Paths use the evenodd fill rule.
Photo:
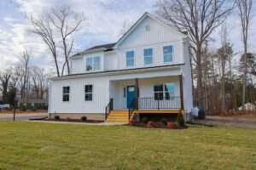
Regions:
<instances>
[{"instance_id":1,"label":"long narrow lower roof between the ground floor and upper storey","mask_svg":"<svg viewBox=\"0 0 256 170\"><path fill-rule=\"evenodd\" d=\"M82 77L112 76L112 75L119 75L119 74L125 74L125 73L135 73L138 71L164 71L168 68L175 68L181 65L185 65L185 64L181 63L176 65L158 65L158 66L150 66L150 67L123 69L123 70L87 72L87 73L71 74L71 75L66 75L61 77L51 77L49 78L49 80L57 81L57 80L74 79L74 78L82 78Z\"/></svg>"}]
</instances>

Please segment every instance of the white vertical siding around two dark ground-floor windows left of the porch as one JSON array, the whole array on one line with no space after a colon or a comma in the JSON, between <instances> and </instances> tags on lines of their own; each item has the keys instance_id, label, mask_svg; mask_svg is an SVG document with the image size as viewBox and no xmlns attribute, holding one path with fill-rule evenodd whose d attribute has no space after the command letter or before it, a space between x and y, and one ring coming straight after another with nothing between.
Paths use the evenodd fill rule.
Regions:
<instances>
[{"instance_id":1,"label":"white vertical siding around two dark ground-floor windows left of the porch","mask_svg":"<svg viewBox=\"0 0 256 170\"><path fill-rule=\"evenodd\" d=\"M93 85L92 101L85 101L84 86ZM62 88L70 87L69 101L62 101ZM104 113L109 102L108 77L65 79L51 82L49 113Z\"/></svg>"}]
</instances>

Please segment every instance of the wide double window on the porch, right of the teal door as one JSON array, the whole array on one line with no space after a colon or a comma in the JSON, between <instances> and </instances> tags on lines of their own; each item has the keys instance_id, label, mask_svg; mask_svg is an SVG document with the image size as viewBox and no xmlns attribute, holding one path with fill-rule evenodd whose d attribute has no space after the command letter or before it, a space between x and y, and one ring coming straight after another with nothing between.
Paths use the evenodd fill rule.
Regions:
<instances>
[{"instance_id":1,"label":"wide double window on the porch, right of the teal door","mask_svg":"<svg viewBox=\"0 0 256 170\"><path fill-rule=\"evenodd\" d=\"M175 86L173 82L154 84L154 99L173 99Z\"/></svg>"}]
</instances>

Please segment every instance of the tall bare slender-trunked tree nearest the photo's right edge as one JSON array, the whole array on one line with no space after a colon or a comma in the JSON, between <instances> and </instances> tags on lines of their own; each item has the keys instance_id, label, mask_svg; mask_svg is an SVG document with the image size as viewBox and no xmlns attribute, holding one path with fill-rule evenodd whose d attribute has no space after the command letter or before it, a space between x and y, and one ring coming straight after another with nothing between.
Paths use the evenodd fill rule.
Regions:
<instances>
[{"instance_id":1,"label":"tall bare slender-trunked tree nearest the photo's right edge","mask_svg":"<svg viewBox=\"0 0 256 170\"><path fill-rule=\"evenodd\" d=\"M236 0L238 7L239 16L241 20L241 34L242 42L244 46L244 60L243 60L243 77L242 77L242 111L245 111L246 103L246 88L247 88L247 38L248 38L248 27L250 22L251 9L253 6L253 0Z\"/></svg>"}]
</instances>

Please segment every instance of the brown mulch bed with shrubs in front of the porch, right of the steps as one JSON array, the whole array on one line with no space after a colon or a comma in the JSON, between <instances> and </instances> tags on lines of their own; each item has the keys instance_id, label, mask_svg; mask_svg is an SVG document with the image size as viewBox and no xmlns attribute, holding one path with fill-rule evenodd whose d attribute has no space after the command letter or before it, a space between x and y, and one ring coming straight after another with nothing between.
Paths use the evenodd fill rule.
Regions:
<instances>
[{"instance_id":1,"label":"brown mulch bed with shrubs in front of the porch, right of the steps","mask_svg":"<svg viewBox=\"0 0 256 170\"><path fill-rule=\"evenodd\" d=\"M178 127L177 125L173 125L172 127L168 127L161 122L153 122L151 126L144 124L143 122L135 122L133 124L125 124L124 126L131 126L131 127L146 127L146 128L167 128L167 129L187 129L187 126Z\"/></svg>"}]
</instances>

